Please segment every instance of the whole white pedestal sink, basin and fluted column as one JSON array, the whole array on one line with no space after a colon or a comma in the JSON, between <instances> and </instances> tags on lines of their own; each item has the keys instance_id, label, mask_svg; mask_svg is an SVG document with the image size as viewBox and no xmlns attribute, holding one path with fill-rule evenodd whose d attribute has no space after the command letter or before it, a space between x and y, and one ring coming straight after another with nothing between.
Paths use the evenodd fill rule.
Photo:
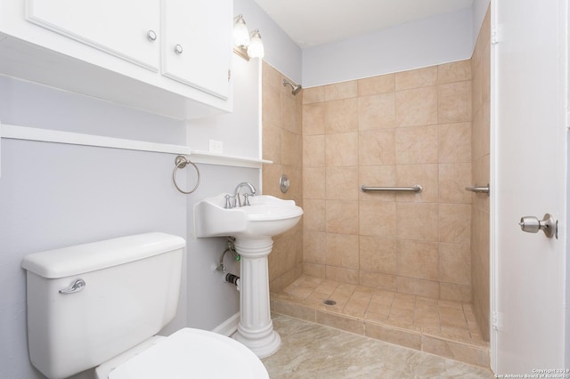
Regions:
<instances>
[{"instance_id":1,"label":"whole white pedestal sink, basin and fluted column","mask_svg":"<svg viewBox=\"0 0 570 379\"><path fill-rule=\"evenodd\" d=\"M196 237L235 237L241 275L240 324L234 338L257 357L265 358L281 345L271 319L267 256L273 247L272 237L293 228L303 209L293 200L266 195L249 198L250 206L226 209L225 195L206 198L194 206Z\"/></svg>"}]
</instances>

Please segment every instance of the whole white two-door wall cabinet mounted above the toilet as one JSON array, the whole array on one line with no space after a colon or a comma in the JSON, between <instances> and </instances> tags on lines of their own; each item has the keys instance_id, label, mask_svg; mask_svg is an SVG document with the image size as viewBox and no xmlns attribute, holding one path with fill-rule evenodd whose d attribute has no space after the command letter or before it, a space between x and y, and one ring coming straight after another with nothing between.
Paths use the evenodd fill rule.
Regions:
<instances>
[{"instance_id":1,"label":"whole white two-door wall cabinet mounted above the toilet","mask_svg":"<svg viewBox=\"0 0 570 379\"><path fill-rule=\"evenodd\" d=\"M0 0L0 74L176 118L232 110L232 0Z\"/></svg>"}]
</instances>

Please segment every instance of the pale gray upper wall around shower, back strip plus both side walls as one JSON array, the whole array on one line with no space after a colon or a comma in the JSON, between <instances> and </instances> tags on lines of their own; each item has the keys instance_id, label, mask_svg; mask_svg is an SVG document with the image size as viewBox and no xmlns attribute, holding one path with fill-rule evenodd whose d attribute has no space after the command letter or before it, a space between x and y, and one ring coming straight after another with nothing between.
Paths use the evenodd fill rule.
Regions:
<instances>
[{"instance_id":1,"label":"pale gray upper wall around shower, back strip plus both side walls","mask_svg":"<svg viewBox=\"0 0 570 379\"><path fill-rule=\"evenodd\" d=\"M489 2L304 49L254 0L234 0L234 14L243 14L249 30L259 28L265 61L308 88L469 59Z\"/></svg>"}]
</instances>

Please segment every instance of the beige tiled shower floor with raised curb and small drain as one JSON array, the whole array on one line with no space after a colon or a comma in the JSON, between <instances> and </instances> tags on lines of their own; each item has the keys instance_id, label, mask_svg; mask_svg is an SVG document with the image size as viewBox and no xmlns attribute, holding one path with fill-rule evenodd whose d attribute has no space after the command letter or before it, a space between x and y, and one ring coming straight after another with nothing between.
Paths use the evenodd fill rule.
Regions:
<instances>
[{"instance_id":1,"label":"beige tiled shower floor with raised curb and small drain","mask_svg":"<svg viewBox=\"0 0 570 379\"><path fill-rule=\"evenodd\" d=\"M336 304L325 305L324 300ZM272 310L480 367L489 346L471 304L301 276L272 294Z\"/></svg>"}]
</instances>

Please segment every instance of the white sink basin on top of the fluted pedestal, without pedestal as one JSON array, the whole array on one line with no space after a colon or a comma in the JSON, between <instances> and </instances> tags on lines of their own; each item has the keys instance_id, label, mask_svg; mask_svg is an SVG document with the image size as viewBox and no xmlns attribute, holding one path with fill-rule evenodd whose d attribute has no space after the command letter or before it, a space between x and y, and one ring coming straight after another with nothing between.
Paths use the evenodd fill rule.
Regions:
<instances>
[{"instance_id":1,"label":"white sink basin on top of the fluted pedestal, without pedestal","mask_svg":"<svg viewBox=\"0 0 570 379\"><path fill-rule=\"evenodd\" d=\"M225 193L194 206L196 237L273 237L293 228L303 209L293 200L268 195L249 198L250 206L224 208Z\"/></svg>"}]
</instances>

